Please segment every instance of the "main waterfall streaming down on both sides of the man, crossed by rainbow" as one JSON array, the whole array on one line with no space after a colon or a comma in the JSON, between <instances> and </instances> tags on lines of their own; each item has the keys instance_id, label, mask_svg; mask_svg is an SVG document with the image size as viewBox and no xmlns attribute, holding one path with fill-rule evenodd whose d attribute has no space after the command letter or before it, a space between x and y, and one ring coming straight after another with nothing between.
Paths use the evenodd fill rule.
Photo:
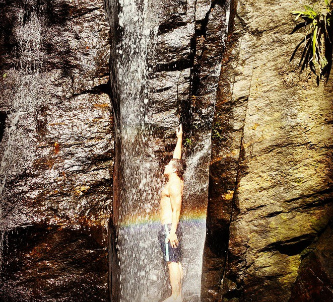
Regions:
<instances>
[{"instance_id":1,"label":"main waterfall streaming down on both sides of the man, crossed by rainbow","mask_svg":"<svg viewBox=\"0 0 333 302\"><path fill-rule=\"evenodd\" d=\"M116 129L113 223L117 256L111 259L110 265L118 269L113 270L112 296L121 302L158 302L171 293L167 267L157 241L160 192L165 180L153 152L157 143L154 133L160 130L154 129L154 121L149 120L147 111L153 88L150 79L155 75L152 66L158 56L154 46L159 11L165 8L149 0L105 3L111 26L111 85ZM187 12L190 14L189 9ZM194 24L192 30L194 34ZM219 70L214 72L219 74ZM213 86L209 91L215 98L217 84ZM186 302L200 300L212 114L208 115L205 137L186 159L181 214L182 293Z\"/></svg>"}]
</instances>

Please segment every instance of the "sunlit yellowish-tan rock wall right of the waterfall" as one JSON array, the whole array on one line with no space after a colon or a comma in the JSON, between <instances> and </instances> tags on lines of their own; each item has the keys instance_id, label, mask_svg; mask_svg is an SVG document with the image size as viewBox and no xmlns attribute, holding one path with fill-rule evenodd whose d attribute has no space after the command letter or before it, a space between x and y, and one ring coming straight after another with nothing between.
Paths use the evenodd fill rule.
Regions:
<instances>
[{"instance_id":1,"label":"sunlit yellowish-tan rock wall right of the waterfall","mask_svg":"<svg viewBox=\"0 0 333 302\"><path fill-rule=\"evenodd\" d=\"M321 233L333 212L333 84L317 87L289 63L303 38L289 35L298 9L239 1L231 13L212 131L207 301L330 297Z\"/></svg>"}]
</instances>

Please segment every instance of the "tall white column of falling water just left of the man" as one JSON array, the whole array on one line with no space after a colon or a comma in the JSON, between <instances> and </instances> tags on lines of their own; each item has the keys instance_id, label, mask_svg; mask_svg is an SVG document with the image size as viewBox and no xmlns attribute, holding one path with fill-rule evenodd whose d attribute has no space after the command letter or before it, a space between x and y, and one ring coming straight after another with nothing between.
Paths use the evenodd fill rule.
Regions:
<instances>
[{"instance_id":1,"label":"tall white column of falling water just left of the man","mask_svg":"<svg viewBox=\"0 0 333 302\"><path fill-rule=\"evenodd\" d=\"M149 106L151 72L147 61L158 27L152 23L153 10L148 0L119 1L119 5L122 39L114 49L117 60L113 66L117 73L117 83L113 85L121 92L115 133L116 140L121 141L120 160L115 166L121 170L117 184L119 197L115 200L119 202L119 215L115 217L120 267L117 290L120 301L145 302L162 294L156 287L161 274L155 264L159 259L155 240L157 223L151 220L159 205L157 188L161 187L161 176L149 148L152 128L145 111Z\"/></svg>"}]
</instances>

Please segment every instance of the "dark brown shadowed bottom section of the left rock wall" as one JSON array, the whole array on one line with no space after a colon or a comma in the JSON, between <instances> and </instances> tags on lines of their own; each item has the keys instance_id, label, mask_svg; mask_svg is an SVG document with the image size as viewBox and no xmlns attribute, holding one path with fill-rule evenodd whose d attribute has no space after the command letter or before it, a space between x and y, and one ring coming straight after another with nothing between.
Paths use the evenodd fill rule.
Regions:
<instances>
[{"instance_id":1,"label":"dark brown shadowed bottom section of the left rock wall","mask_svg":"<svg viewBox=\"0 0 333 302\"><path fill-rule=\"evenodd\" d=\"M102 228L34 224L9 231L3 242L1 300L107 300L107 251L96 239L105 237Z\"/></svg>"}]
</instances>

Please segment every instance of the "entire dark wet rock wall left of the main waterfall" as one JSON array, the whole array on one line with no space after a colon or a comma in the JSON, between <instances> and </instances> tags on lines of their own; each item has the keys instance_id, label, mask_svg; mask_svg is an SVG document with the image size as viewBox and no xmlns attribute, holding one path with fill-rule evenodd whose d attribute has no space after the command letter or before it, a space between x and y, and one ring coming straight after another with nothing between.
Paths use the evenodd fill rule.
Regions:
<instances>
[{"instance_id":1,"label":"entire dark wet rock wall left of the main waterfall","mask_svg":"<svg viewBox=\"0 0 333 302\"><path fill-rule=\"evenodd\" d=\"M0 15L0 299L107 300L113 120L103 6L3 0Z\"/></svg>"}]
</instances>

